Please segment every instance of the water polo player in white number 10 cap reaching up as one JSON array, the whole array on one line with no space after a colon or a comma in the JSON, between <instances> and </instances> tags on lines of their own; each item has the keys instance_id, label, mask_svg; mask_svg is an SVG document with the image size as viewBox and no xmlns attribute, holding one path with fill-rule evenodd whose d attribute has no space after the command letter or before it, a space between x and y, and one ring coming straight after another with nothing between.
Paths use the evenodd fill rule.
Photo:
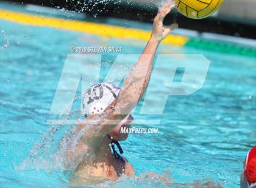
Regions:
<instances>
[{"instance_id":1,"label":"water polo player in white number 10 cap reaching up","mask_svg":"<svg viewBox=\"0 0 256 188\"><path fill-rule=\"evenodd\" d=\"M137 106L148 87L158 45L178 26L163 25L163 19L173 7L174 5L168 2L158 12L154 19L151 38L121 89L109 83L102 83L95 84L86 91L83 105L87 123L82 124L76 133L86 131L82 132L79 144L76 145L76 155L85 151L87 154L84 154L76 167L71 184L99 183L106 179L117 180L123 174L135 175L130 163L120 154L123 150L118 141L124 141L128 136L120 133L120 129L130 126L133 119L130 112ZM93 126L88 123L90 121L93 121ZM115 150L115 146L118 147L118 151Z\"/></svg>"}]
</instances>

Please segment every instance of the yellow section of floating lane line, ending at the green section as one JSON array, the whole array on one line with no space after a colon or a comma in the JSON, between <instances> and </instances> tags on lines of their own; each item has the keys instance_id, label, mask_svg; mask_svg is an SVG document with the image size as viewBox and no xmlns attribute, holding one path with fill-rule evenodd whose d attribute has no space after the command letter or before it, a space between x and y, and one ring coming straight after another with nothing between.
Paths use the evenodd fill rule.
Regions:
<instances>
[{"instance_id":1,"label":"yellow section of floating lane line, ending at the green section","mask_svg":"<svg viewBox=\"0 0 256 188\"><path fill-rule=\"evenodd\" d=\"M49 16L30 15L27 13L0 10L0 18L18 24L33 25L39 27L54 27L56 29L71 30L74 32L85 32L93 35L110 38L141 39L147 41L151 32L141 29L130 29L106 24L96 24L94 22L76 21L70 19L52 18ZM168 35L163 41L164 44L185 45L188 38L179 35Z\"/></svg>"}]
</instances>

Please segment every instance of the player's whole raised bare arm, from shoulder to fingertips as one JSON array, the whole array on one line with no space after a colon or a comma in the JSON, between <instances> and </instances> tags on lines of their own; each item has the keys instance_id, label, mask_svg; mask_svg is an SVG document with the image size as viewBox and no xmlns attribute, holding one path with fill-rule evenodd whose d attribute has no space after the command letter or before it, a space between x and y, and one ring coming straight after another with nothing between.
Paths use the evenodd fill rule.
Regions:
<instances>
[{"instance_id":1,"label":"player's whole raised bare arm, from shoulder to fingertips","mask_svg":"<svg viewBox=\"0 0 256 188\"><path fill-rule=\"evenodd\" d=\"M158 45L166 38L169 32L178 27L177 24L171 24L168 27L163 25L163 19L173 7L174 5L168 2L155 16L151 38L137 64L133 67L132 72L124 81L123 87L115 101L101 115L93 115L87 118L86 124L96 125L92 129L98 129L97 136L104 138L110 130L115 128L137 106L138 101L144 95L151 76L152 63ZM93 121L93 123L90 123L90 121ZM84 126L80 128L82 129L82 127ZM89 134L88 132L87 136Z\"/></svg>"}]
</instances>

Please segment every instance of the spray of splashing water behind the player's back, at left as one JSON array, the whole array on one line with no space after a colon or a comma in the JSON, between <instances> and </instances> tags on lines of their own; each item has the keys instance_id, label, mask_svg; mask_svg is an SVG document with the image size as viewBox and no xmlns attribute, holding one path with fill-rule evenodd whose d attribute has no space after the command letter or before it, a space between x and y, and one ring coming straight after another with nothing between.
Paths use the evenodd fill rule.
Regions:
<instances>
[{"instance_id":1,"label":"spray of splashing water behind the player's back, at left","mask_svg":"<svg viewBox=\"0 0 256 188\"><path fill-rule=\"evenodd\" d=\"M80 98L77 97L74 101L69 102L67 106L79 100ZM50 172L52 170L59 170L60 172L74 170L88 152L85 150L84 153L77 153L76 145L81 136L90 128L90 126L87 126L78 133L75 133L76 125L65 126L66 121L74 118L77 121L82 118L80 110L76 109L68 115L60 115L59 119L62 119L62 124L50 126L48 132L32 147L29 156L16 169L43 169ZM70 152L73 153L73 156L69 156Z\"/></svg>"}]
</instances>

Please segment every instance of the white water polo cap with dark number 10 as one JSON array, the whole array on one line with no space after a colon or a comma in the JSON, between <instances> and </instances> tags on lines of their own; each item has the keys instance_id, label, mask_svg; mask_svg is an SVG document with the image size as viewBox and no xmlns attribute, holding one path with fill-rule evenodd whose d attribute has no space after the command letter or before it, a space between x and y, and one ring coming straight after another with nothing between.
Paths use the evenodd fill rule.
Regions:
<instances>
[{"instance_id":1,"label":"white water polo cap with dark number 10","mask_svg":"<svg viewBox=\"0 0 256 188\"><path fill-rule=\"evenodd\" d=\"M109 83L94 84L84 93L83 115L94 115L104 110L114 101L121 89Z\"/></svg>"}]
</instances>

